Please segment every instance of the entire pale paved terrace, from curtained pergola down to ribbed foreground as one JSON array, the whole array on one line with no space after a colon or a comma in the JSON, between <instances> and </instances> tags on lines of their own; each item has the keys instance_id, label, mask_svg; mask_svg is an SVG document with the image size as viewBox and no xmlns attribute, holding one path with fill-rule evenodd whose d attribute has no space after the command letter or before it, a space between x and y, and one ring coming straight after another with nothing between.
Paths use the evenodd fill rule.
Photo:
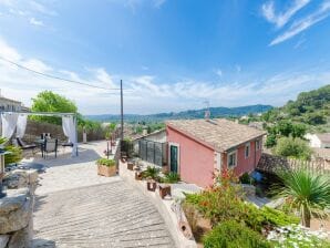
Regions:
<instances>
[{"instance_id":1,"label":"entire pale paved terrace, from curtained pergola down to ribbed foreground","mask_svg":"<svg viewBox=\"0 0 330 248\"><path fill-rule=\"evenodd\" d=\"M164 220L137 189L118 176L96 175L103 143L69 148L49 166L35 190L33 247L174 247Z\"/></svg>"}]
</instances>

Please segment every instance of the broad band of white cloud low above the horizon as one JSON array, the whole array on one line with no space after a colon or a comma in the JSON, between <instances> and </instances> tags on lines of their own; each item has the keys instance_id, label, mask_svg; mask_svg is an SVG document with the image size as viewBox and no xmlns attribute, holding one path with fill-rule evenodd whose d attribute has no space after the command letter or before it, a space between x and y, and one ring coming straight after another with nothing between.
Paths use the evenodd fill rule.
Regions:
<instances>
[{"instance_id":1,"label":"broad band of white cloud low above the horizon","mask_svg":"<svg viewBox=\"0 0 330 248\"><path fill-rule=\"evenodd\" d=\"M35 58L24 58L14 48L0 39L0 55L39 72L89 83L95 86L118 87L124 82L125 113L158 113L203 107L208 100L214 106L238 106L248 104L283 104L301 91L308 91L330 82L330 73L297 72L282 73L265 81L221 82L182 80L161 83L155 75L114 75L103 68L82 72L60 70ZM62 82L18 69L0 60L0 89L2 94L31 104L40 91L51 90L73 100L83 114L120 113L118 91ZM329 71L329 70L328 70Z\"/></svg>"}]
</instances>

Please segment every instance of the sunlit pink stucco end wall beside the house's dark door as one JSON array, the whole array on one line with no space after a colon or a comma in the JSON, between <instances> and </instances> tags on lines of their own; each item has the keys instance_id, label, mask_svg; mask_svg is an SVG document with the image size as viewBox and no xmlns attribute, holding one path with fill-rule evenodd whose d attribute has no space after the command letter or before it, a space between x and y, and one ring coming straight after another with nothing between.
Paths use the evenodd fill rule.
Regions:
<instances>
[{"instance_id":1,"label":"sunlit pink stucco end wall beside the house's dark door","mask_svg":"<svg viewBox=\"0 0 330 248\"><path fill-rule=\"evenodd\" d=\"M214 149L166 126L167 142L179 144L179 175L182 180L207 187L213 184Z\"/></svg>"}]
</instances>

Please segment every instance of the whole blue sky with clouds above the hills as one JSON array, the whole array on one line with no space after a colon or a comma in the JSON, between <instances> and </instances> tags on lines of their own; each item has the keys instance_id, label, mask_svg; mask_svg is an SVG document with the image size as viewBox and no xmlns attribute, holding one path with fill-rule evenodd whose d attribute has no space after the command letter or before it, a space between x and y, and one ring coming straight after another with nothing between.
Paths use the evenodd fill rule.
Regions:
<instances>
[{"instance_id":1,"label":"whole blue sky with clouds above the hills","mask_svg":"<svg viewBox=\"0 0 330 248\"><path fill-rule=\"evenodd\" d=\"M330 0L0 0L0 56L39 72L117 87L126 113L281 105L330 83ZM0 61L2 94L42 90L84 114L118 95Z\"/></svg>"}]
</instances>

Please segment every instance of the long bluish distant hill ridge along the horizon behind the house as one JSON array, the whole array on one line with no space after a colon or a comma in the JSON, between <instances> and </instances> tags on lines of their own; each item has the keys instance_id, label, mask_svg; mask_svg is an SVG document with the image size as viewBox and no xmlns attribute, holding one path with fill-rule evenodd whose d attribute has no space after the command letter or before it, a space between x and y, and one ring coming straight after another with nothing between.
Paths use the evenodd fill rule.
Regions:
<instances>
[{"instance_id":1,"label":"long bluish distant hill ridge along the horizon behind the house","mask_svg":"<svg viewBox=\"0 0 330 248\"><path fill-rule=\"evenodd\" d=\"M238 107L210 107L210 117L228 117L228 116L243 116L248 114L264 113L271 110L270 105L249 105L249 106L238 106ZM162 122L166 120L177 120L177 118L203 118L206 108L202 110L189 110L182 112L171 112L171 113L158 113L149 115L138 115L138 114L125 114L125 122ZM86 118L100 122L117 122L120 121L120 115L85 115Z\"/></svg>"}]
</instances>

